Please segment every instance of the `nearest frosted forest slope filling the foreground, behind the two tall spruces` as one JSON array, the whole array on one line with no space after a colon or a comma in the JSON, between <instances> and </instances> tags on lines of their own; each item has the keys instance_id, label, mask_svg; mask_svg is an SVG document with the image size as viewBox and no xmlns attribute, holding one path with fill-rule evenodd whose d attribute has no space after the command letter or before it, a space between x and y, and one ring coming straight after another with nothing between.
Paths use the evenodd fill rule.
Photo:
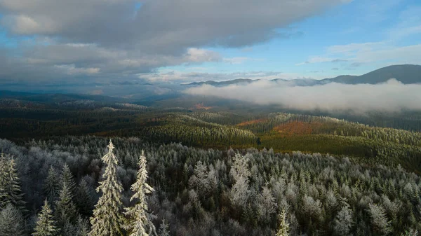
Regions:
<instances>
[{"instance_id":1,"label":"nearest frosted forest slope filling the foreground, behind the two tall spruces","mask_svg":"<svg viewBox=\"0 0 421 236\"><path fill-rule=\"evenodd\" d=\"M51 235L98 235L95 229L106 226L91 228L97 222L93 212L99 212L98 199L107 190L100 187L97 193L95 188L104 186L107 177L121 183L116 186L121 195L114 193L118 201L107 213L133 222L123 212L137 205L130 198L139 190L132 184L140 181L147 193L142 225L159 235L275 235L285 228L289 235L415 235L421 230L421 179L399 166L361 165L319 153L112 141L55 137L18 146L0 140L1 161L8 163L1 165L2 176L14 176L1 180L13 181L14 188L2 190L0 235L39 232L43 217L54 225ZM107 162L112 156L118 165ZM124 230L123 222L116 220L112 227L122 235L133 232Z\"/></svg>"}]
</instances>

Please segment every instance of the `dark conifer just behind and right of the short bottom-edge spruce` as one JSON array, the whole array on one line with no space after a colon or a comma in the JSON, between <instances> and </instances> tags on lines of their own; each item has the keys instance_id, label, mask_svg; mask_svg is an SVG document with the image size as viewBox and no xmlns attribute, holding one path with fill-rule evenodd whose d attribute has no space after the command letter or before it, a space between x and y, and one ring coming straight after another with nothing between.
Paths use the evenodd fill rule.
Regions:
<instances>
[{"instance_id":1,"label":"dark conifer just behind and right of the short bottom-edge spruce","mask_svg":"<svg viewBox=\"0 0 421 236\"><path fill-rule=\"evenodd\" d=\"M65 223L74 222L76 218L76 205L72 200L72 193L70 193L67 183L63 183L58 200L55 202L55 214L58 219L58 225L61 227Z\"/></svg>"}]
</instances>

